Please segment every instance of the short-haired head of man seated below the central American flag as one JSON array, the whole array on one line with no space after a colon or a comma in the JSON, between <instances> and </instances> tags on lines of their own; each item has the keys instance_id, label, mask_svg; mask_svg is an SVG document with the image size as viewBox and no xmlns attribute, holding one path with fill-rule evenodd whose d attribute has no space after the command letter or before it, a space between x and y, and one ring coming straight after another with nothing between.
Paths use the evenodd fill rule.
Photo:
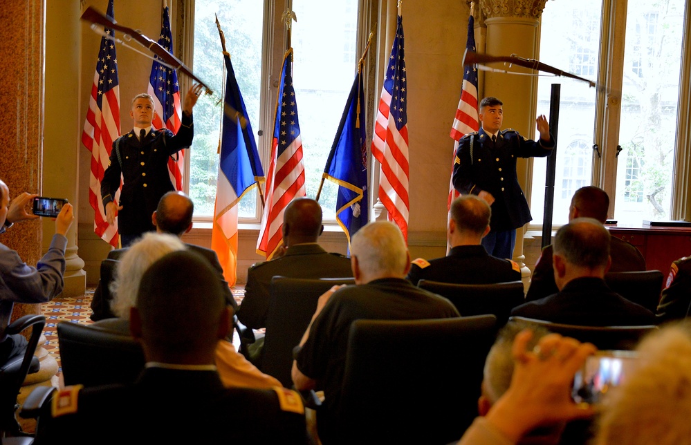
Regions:
<instances>
[{"instance_id":1,"label":"short-haired head of man seated below the central American flag","mask_svg":"<svg viewBox=\"0 0 691 445\"><path fill-rule=\"evenodd\" d=\"M283 214L284 243L291 245L316 243L322 234L322 206L310 198L291 201Z\"/></svg>"}]
</instances>

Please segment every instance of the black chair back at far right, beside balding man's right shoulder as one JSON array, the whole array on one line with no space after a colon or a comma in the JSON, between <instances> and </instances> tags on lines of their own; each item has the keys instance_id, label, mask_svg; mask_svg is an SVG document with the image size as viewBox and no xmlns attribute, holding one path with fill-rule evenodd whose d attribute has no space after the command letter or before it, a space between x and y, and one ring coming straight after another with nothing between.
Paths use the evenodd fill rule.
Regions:
<instances>
[{"instance_id":1,"label":"black chair back at far right, beside balding man's right shoulder","mask_svg":"<svg viewBox=\"0 0 691 445\"><path fill-rule=\"evenodd\" d=\"M653 313L660 302L663 278L659 270L605 274L605 282L611 290Z\"/></svg>"}]
</instances>

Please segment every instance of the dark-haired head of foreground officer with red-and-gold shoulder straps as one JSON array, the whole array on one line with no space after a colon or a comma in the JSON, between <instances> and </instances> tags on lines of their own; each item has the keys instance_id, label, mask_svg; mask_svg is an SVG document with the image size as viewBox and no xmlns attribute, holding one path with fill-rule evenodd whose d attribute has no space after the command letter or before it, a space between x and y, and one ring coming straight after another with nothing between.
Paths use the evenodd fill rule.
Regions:
<instances>
[{"instance_id":1,"label":"dark-haired head of foreground officer with red-and-gold shoulder straps","mask_svg":"<svg viewBox=\"0 0 691 445\"><path fill-rule=\"evenodd\" d=\"M213 363L216 342L228 332L218 275L194 252L163 256L142 276L131 321L147 360Z\"/></svg>"}]
</instances>

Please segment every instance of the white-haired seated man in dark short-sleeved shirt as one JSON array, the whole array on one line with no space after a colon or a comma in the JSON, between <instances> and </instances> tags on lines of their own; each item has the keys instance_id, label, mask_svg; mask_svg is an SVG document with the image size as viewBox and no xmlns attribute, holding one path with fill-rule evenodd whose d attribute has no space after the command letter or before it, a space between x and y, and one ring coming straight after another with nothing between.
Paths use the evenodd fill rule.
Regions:
<instances>
[{"instance_id":1,"label":"white-haired seated man in dark short-sleeved shirt","mask_svg":"<svg viewBox=\"0 0 691 445\"><path fill-rule=\"evenodd\" d=\"M351 243L356 285L334 286L320 296L317 310L293 361L298 390L324 390L317 428L324 444L338 442L338 404L350 325L359 319L414 320L459 316L448 300L405 280L410 256L392 223L369 223ZM366 432L363 432L366 434Z\"/></svg>"}]
</instances>

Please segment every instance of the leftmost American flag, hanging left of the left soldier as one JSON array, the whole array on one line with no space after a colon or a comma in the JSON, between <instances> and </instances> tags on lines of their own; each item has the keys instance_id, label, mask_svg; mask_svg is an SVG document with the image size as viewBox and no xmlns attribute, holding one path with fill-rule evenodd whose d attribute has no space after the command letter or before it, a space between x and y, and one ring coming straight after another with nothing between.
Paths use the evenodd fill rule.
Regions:
<instances>
[{"instance_id":1,"label":"leftmost American flag, hanging left of the left soldier","mask_svg":"<svg viewBox=\"0 0 691 445\"><path fill-rule=\"evenodd\" d=\"M108 2L107 16L113 19L113 0ZM110 37L114 32L105 28ZM98 61L91 86L89 110L86 111L82 144L91 151L91 174L89 175L89 203L93 208L93 231L104 241L118 247L118 227L111 226L101 200L101 180L108 168L113 141L120 136L120 86L118 86L118 59L115 41L101 38ZM120 191L116 193L116 201Z\"/></svg>"}]
</instances>

